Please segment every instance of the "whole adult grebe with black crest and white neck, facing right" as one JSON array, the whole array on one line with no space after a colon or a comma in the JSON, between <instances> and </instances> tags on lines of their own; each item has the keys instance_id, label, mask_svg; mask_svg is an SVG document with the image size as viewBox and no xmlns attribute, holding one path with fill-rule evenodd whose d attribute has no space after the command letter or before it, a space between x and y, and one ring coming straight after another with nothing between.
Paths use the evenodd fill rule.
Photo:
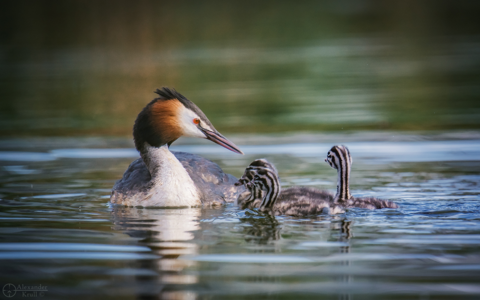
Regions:
<instances>
[{"instance_id":1,"label":"whole adult grebe with black crest and white neck, facing right","mask_svg":"<svg viewBox=\"0 0 480 300\"><path fill-rule=\"evenodd\" d=\"M133 126L141 158L130 164L113 186L112 204L128 206L197 206L234 201L243 186L234 186L212 161L168 147L180 136L206 138L243 154L213 127L205 114L174 89L157 89L158 98L142 109Z\"/></svg>"}]
</instances>

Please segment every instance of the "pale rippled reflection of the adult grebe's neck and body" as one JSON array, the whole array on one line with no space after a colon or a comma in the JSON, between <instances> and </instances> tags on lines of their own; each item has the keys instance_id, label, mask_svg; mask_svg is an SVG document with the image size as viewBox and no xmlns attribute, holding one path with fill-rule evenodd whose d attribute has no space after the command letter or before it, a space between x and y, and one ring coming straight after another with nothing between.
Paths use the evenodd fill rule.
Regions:
<instances>
[{"instance_id":1,"label":"pale rippled reflection of the adult grebe's neck and body","mask_svg":"<svg viewBox=\"0 0 480 300\"><path fill-rule=\"evenodd\" d=\"M178 259L196 254L197 246L189 242L200 229L200 208L138 209L113 207L114 230L139 239L139 245L150 247L156 260L140 260L139 268L154 271L158 276L136 276L141 299L193 300L197 294L181 285L198 282L195 275L185 274L196 262ZM179 287L180 285L180 287Z\"/></svg>"}]
</instances>

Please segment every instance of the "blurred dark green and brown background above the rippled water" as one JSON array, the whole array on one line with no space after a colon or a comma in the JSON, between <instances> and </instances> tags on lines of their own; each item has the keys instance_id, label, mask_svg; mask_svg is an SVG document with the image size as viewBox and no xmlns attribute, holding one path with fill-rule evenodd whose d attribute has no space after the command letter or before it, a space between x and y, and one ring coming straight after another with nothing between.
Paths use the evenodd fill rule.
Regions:
<instances>
[{"instance_id":1,"label":"blurred dark green and brown background above the rippled water","mask_svg":"<svg viewBox=\"0 0 480 300\"><path fill-rule=\"evenodd\" d=\"M130 135L161 86L223 133L480 127L480 1L6 1L1 135Z\"/></svg>"}]
</instances>

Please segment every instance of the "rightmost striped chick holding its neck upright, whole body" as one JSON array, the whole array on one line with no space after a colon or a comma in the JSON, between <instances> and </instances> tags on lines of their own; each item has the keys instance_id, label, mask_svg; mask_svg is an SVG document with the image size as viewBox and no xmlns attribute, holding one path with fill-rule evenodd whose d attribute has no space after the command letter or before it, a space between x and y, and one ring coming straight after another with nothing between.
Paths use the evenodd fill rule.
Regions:
<instances>
[{"instance_id":1,"label":"rightmost striped chick holding its neck upright, whole body","mask_svg":"<svg viewBox=\"0 0 480 300\"><path fill-rule=\"evenodd\" d=\"M398 208L398 204L392 201L375 197L353 197L350 194L349 180L352 166L352 156L346 146L333 146L325 158L330 167L337 170L338 180L336 184L335 202L343 207L360 207L369 209Z\"/></svg>"}]
</instances>

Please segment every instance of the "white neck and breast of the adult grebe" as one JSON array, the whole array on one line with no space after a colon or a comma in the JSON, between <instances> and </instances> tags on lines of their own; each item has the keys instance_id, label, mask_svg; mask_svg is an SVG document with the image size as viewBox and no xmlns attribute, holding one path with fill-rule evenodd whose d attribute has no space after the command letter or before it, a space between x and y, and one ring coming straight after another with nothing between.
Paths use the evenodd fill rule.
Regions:
<instances>
[{"instance_id":1,"label":"white neck and breast of the adult grebe","mask_svg":"<svg viewBox=\"0 0 480 300\"><path fill-rule=\"evenodd\" d=\"M152 175L143 206L201 205L195 184L167 145L152 147L145 143L141 155Z\"/></svg>"}]
</instances>

